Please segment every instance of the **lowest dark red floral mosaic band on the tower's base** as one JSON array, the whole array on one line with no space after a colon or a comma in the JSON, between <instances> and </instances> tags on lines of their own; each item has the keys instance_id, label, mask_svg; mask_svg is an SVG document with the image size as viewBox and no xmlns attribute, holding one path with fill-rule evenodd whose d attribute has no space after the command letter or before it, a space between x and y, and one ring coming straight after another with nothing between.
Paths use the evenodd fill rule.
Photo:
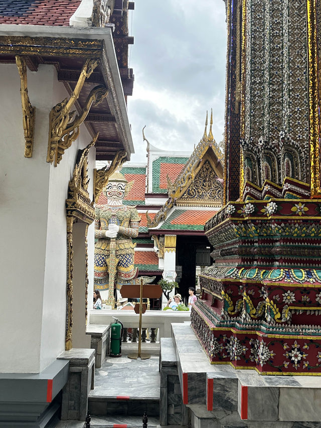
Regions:
<instances>
[{"instance_id":1,"label":"lowest dark red floral mosaic band on the tower's base","mask_svg":"<svg viewBox=\"0 0 321 428\"><path fill-rule=\"evenodd\" d=\"M212 363L253 368L261 374L312 374L319 371L321 343L309 337L265 335L211 330L200 312L200 302L191 313L192 328Z\"/></svg>"}]
</instances>

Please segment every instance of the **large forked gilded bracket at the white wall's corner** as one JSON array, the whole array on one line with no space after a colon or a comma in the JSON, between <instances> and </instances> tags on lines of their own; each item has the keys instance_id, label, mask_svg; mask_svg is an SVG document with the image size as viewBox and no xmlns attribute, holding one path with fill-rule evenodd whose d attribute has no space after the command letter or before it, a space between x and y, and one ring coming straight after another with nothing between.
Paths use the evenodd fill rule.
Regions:
<instances>
[{"instance_id":1,"label":"large forked gilded bracket at the white wall's corner","mask_svg":"<svg viewBox=\"0 0 321 428\"><path fill-rule=\"evenodd\" d=\"M71 112L70 110L78 99L86 78L91 75L98 62L98 60L86 60L70 98L67 97L55 105L50 112L47 162L51 164L54 162L55 167L61 161L64 151L77 138L79 126L85 120L92 103L98 104L107 95L107 89L104 86L94 88L88 95L81 113L72 120L76 111Z\"/></svg>"}]
</instances>

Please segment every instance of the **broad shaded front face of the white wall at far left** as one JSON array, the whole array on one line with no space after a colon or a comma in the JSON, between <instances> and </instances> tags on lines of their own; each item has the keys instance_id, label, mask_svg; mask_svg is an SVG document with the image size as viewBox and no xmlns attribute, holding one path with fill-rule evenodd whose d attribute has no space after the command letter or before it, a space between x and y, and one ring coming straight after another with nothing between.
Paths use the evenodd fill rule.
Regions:
<instances>
[{"instance_id":1,"label":"broad shaded front face of the white wall at far left","mask_svg":"<svg viewBox=\"0 0 321 428\"><path fill-rule=\"evenodd\" d=\"M48 211L48 133L47 141L41 141L36 130L33 157L25 158L17 66L1 65L0 78L1 221L2 240L6 243L1 255L0 371L38 372ZM39 78L37 91L40 87ZM48 96L45 92L43 99L47 102ZM38 114L36 126L42 123L41 108Z\"/></svg>"}]
</instances>

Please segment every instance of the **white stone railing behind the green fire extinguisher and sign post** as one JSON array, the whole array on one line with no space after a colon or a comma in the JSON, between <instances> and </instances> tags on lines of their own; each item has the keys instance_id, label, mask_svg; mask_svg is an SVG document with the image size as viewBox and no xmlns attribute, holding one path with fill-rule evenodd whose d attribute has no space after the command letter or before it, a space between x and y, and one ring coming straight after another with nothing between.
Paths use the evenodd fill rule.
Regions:
<instances>
[{"instance_id":1,"label":"white stone railing behind the green fire extinguisher and sign post","mask_svg":"<svg viewBox=\"0 0 321 428\"><path fill-rule=\"evenodd\" d=\"M117 318L124 326L125 329L137 329L139 322L139 315L133 311L117 311L117 310L90 310L89 311L89 325L109 325L114 321L113 317ZM157 342L162 337L171 337L172 323L184 323L185 321L191 321L191 313L187 311L146 311L142 314L142 337L144 338L144 330L151 329L151 335L153 336L153 330L157 331ZM126 334L126 332L125 332ZM136 332L134 334L134 339ZM124 337L124 336L123 336ZM126 337L126 336L125 336ZM136 339L138 341L138 339ZM131 340L130 340L131 341ZM135 340L134 340L135 341ZM153 337L151 343L153 343Z\"/></svg>"}]
</instances>

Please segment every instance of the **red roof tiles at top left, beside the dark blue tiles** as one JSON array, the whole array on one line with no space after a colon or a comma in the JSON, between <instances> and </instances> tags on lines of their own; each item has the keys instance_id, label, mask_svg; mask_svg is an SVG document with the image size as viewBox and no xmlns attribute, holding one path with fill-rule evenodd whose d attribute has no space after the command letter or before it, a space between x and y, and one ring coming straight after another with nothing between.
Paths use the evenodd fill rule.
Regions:
<instances>
[{"instance_id":1,"label":"red roof tiles at top left, beside the dark blue tiles","mask_svg":"<svg viewBox=\"0 0 321 428\"><path fill-rule=\"evenodd\" d=\"M0 24L69 26L80 3L81 0L35 0L26 14L17 11L17 16L0 16Z\"/></svg>"}]
</instances>

